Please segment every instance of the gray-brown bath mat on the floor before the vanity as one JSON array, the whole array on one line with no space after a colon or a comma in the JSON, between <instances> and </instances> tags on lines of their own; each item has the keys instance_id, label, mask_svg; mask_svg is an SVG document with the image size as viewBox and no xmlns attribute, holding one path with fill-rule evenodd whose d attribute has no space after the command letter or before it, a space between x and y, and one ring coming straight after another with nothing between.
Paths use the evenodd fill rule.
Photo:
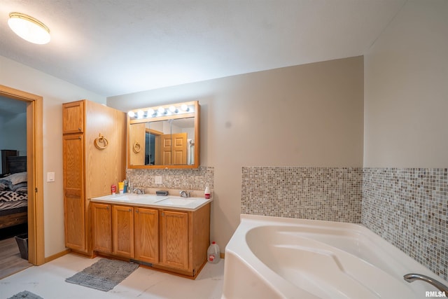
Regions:
<instances>
[{"instance_id":1,"label":"gray-brown bath mat on the floor before the vanity","mask_svg":"<svg viewBox=\"0 0 448 299\"><path fill-rule=\"evenodd\" d=\"M123 260L102 258L90 267L86 267L83 271L65 279L65 281L107 292L117 284L120 284L138 267L138 264L127 263Z\"/></svg>"}]
</instances>

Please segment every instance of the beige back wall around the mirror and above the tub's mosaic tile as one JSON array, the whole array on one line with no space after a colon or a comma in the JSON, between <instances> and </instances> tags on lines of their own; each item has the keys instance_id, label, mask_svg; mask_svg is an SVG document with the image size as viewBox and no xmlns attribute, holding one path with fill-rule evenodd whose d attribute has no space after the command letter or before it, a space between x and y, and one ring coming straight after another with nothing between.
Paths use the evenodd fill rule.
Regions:
<instances>
[{"instance_id":1,"label":"beige back wall around the mirror and above the tub's mosaic tile","mask_svg":"<svg viewBox=\"0 0 448 299\"><path fill-rule=\"evenodd\" d=\"M214 167L211 238L239 223L243 166L363 166L363 57L109 97L127 111L197 99L201 165Z\"/></svg>"}]
</instances>

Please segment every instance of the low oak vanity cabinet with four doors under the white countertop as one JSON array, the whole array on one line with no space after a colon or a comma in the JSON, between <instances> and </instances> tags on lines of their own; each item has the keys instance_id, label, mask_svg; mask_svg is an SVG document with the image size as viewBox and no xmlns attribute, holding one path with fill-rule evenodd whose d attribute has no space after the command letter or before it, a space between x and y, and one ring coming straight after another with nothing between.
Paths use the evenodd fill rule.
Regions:
<instances>
[{"instance_id":1,"label":"low oak vanity cabinet with four doors under the white countertop","mask_svg":"<svg viewBox=\"0 0 448 299\"><path fill-rule=\"evenodd\" d=\"M207 262L210 204L180 211L93 202L92 216L95 251L188 277Z\"/></svg>"}]
</instances>

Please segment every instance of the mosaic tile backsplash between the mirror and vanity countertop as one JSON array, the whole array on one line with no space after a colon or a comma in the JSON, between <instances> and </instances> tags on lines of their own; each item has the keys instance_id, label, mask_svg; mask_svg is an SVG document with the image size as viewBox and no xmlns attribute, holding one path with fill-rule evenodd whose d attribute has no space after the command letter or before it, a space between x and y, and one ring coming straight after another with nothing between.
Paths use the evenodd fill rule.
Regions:
<instances>
[{"instance_id":1,"label":"mosaic tile backsplash between the mirror and vanity countertop","mask_svg":"<svg viewBox=\"0 0 448 299\"><path fill-rule=\"evenodd\" d=\"M134 187L169 188L181 190L214 189L214 167L197 169L127 169L127 178ZM155 183L155 176L162 176L162 184Z\"/></svg>"}]
</instances>

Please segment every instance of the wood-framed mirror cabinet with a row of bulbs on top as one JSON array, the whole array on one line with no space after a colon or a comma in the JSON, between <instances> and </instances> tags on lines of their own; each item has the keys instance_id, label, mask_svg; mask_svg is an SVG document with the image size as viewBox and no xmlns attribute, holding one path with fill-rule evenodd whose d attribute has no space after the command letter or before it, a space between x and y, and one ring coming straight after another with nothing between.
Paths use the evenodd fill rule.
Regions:
<instances>
[{"instance_id":1,"label":"wood-framed mirror cabinet with a row of bulbs on top","mask_svg":"<svg viewBox=\"0 0 448 299\"><path fill-rule=\"evenodd\" d=\"M128 113L128 168L199 167L199 103Z\"/></svg>"}]
</instances>

